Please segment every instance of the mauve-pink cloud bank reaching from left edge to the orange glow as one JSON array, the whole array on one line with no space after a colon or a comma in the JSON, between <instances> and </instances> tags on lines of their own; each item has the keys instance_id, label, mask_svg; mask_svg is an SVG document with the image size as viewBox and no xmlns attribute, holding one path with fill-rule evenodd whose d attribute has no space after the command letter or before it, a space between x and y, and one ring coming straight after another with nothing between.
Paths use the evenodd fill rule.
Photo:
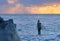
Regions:
<instances>
[{"instance_id":1,"label":"mauve-pink cloud bank reaching from left edge to the orange glow","mask_svg":"<svg viewBox=\"0 0 60 41\"><path fill-rule=\"evenodd\" d=\"M5 5L0 7L0 13L15 14L23 12L24 12L24 6L22 4Z\"/></svg>"}]
</instances>

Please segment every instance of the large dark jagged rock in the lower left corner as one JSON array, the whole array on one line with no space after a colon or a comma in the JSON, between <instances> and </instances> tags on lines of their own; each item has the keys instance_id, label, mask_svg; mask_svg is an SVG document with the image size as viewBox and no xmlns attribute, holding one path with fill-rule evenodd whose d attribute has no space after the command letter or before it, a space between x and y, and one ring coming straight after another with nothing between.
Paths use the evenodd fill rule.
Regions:
<instances>
[{"instance_id":1,"label":"large dark jagged rock in the lower left corner","mask_svg":"<svg viewBox=\"0 0 60 41\"><path fill-rule=\"evenodd\" d=\"M20 41L13 19L4 21L3 18L0 17L0 41Z\"/></svg>"}]
</instances>

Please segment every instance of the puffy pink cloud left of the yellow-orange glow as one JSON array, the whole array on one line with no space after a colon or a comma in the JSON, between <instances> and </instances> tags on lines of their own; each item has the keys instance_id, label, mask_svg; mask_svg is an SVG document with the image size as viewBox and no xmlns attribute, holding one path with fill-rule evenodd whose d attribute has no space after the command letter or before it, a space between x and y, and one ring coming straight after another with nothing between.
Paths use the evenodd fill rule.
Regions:
<instances>
[{"instance_id":1,"label":"puffy pink cloud left of the yellow-orange glow","mask_svg":"<svg viewBox=\"0 0 60 41\"><path fill-rule=\"evenodd\" d=\"M16 4L15 6L12 6L8 9L8 13L23 13L23 5Z\"/></svg>"}]
</instances>

